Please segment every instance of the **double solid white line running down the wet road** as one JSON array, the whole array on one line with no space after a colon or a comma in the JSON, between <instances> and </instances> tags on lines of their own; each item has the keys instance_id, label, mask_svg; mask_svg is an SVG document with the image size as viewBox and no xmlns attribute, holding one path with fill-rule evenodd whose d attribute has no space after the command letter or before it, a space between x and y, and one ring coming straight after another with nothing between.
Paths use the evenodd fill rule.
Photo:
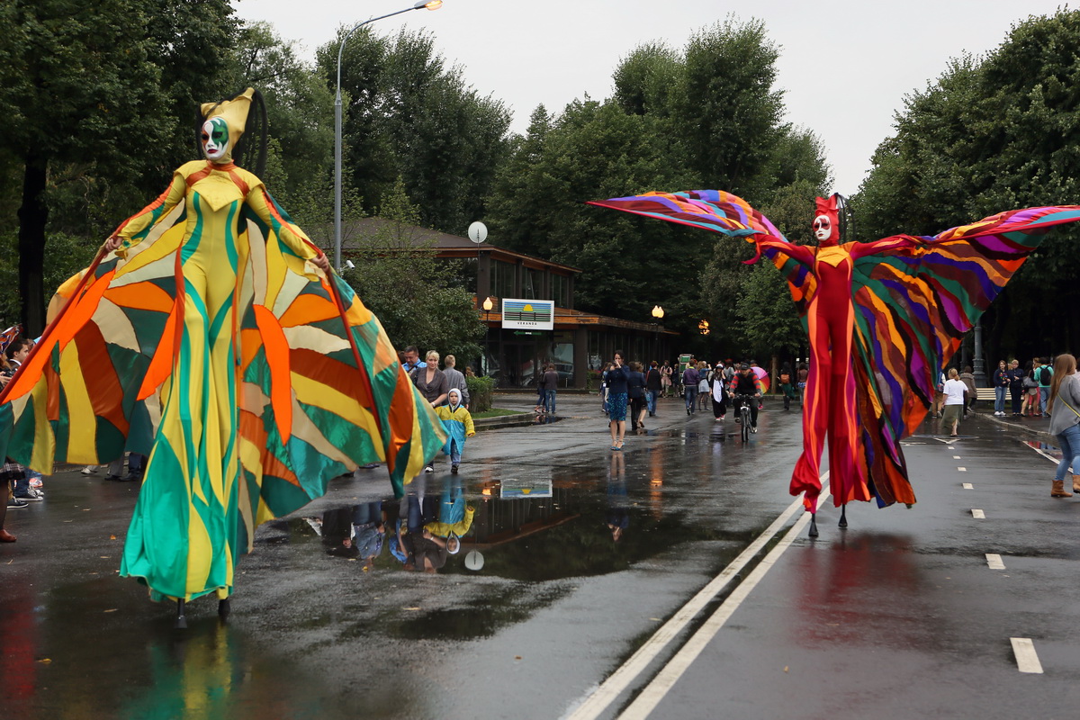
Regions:
<instances>
[{"instance_id":1,"label":"double solid white line running down the wet road","mask_svg":"<svg viewBox=\"0 0 1080 720\"><path fill-rule=\"evenodd\" d=\"M822 474L822 493L818 499L819 504L828 499L827 489L828 472ZM643 644L637 652L631 655L630 660L623 663L622 667L616 670L595 691L578 705L570 715L565 716L566 720L595 720L603 714L611 703L613 703L633 683L637 677L645 671L652 661L654 661L669 644L686 629L686 626L697 616L702 609L719 595L725 587L738 575L743 568L761 552L769 542L777 536L795 513L802 511L802 500L796 499L783 513L777 517L772 524L752 542L746 549L739 554L731 563L714 578L707 585L698 592L693 598L683 606L675 615L664 623L659 630ZM780 556L792 544L795 536L810 521L807 513L802 514L783 540L777 544L772 551L762 559L747 578L739 584L739 587L717 608L705 624L690 638L690 640L678 651L678 653L667 663L663 670L650 682L638 695L634 703L623 714L623 718L644 718L656 707L667 693L676 680L686 671L693 660L701 653L708 641L715 636L724 623L728 621L735 609L750 595L751 590L760 582L765 573L772 569Z\"/></svg>"}]
</instances>

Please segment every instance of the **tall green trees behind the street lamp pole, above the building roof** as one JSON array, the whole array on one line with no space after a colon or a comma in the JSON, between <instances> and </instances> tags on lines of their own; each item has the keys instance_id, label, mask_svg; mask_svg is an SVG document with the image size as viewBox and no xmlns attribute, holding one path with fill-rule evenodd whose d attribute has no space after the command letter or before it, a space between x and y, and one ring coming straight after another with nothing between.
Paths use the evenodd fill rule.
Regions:
<instances>
[{"instance_id":1,"label":"tall green trees behind the street lamp pole, above the building roof","mask_svg":"<svg viewBox=\"0 0 1080 720\"><path fill-rule=\"evenodd\" d=\"M326 81L336 83L338 39L319 49ZM461 233L485 215L495 168L509 150L510 112L465 85L430 35L356 31L341 57L345 165L369 214L403 180L424 227Z\"/></svg>"}]
</instances>

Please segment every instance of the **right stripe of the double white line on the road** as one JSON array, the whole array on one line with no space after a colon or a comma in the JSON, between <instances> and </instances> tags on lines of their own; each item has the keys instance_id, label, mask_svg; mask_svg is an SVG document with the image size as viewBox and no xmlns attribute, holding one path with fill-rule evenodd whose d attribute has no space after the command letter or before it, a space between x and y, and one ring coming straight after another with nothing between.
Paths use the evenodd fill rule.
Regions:
<instances>
[{"instance_id":1,"label":"right stripe of the double white line on the road","mask_svg":"<svg viewBox=\"0 0 1080 720\"><path fill-rule=\"evenodd\" d=\"M823 491L819 502L824 502L825 497L828 491ZM792 526L791 530L783 536L783 539L777 543L775 547L769 551L769 554L765 556L765 559L758 563L754 570L746 575L746 580L739 584L739 587L731 592L731 595L720 603L720 607L716 609L716 612L705 621L705 623L698 629L693 636L687 640L686 644L683 646L675 656L657 674L657 677L645 687L645 689L634 698L634 702L630 704L630 707L619 716L619 720L645 720L652 710L656 709L657 705L664 698L664 695L675 685L683 674L689 669L690 665L698 658L698 655L705 649L705 647L712 641L716 634L720 631L725 623L731 617L739 606L750 597L750 594L754 590L759 582L765 578L765 574L769 572L775 566L777 561L780 560L780 556L791 547L795 538L802 532L806 526L810 522L810 516L807 513L802 514L795 525Z\"/></svg>"}]
</instances>

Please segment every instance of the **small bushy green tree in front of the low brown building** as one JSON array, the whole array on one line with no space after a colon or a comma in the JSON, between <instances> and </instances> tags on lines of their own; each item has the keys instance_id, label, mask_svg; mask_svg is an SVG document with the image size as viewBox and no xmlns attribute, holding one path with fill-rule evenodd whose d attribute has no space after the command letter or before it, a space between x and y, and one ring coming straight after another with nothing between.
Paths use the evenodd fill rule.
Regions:
<instances>
[{"instance_id":1,"label":"small bushy green tree in front of the low brown building","mask_svg":"<svg viewBox=\"0 0 1080 720\"><path fill-rule=\"evenodd\" d=\"M451 286L455 273L436 260L433 243L416 233L419 213L401 184L383 201L383 213L387 221L359 242L352 254L356 269L347 270L345 279L379 317L395 348L417 345L462 359L478 356L484 325L473 297Z\"/></svg>"}]
</instances>

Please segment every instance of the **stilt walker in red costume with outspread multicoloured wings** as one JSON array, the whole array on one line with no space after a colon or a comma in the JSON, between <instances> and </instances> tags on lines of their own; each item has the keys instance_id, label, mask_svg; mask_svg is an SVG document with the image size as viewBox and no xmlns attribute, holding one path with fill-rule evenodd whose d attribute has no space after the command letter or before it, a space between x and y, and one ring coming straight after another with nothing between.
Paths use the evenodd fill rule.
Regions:
<instances>
[{"instance_id":1,"label":"stilt walker in red costume with outspread multicoloured wings","mask_svg":"<svg viewBox=\"0 0 1080 720\"><path fill-rule=\"evenodd\" d=\"M963 334L1051 227L1080 220L1080 206L999 213L932 236L843 243L838 200L816 200L816 247L788 242L744 200L718 190L590 204L743 237L757 246L748 262L765 255L784 274L812 355L791 492L804 493L807 511L816 513L827 436L829 488L843 528L852 500L915 503L901 438L922 422Z\"/></svg>"}]
</instances>

